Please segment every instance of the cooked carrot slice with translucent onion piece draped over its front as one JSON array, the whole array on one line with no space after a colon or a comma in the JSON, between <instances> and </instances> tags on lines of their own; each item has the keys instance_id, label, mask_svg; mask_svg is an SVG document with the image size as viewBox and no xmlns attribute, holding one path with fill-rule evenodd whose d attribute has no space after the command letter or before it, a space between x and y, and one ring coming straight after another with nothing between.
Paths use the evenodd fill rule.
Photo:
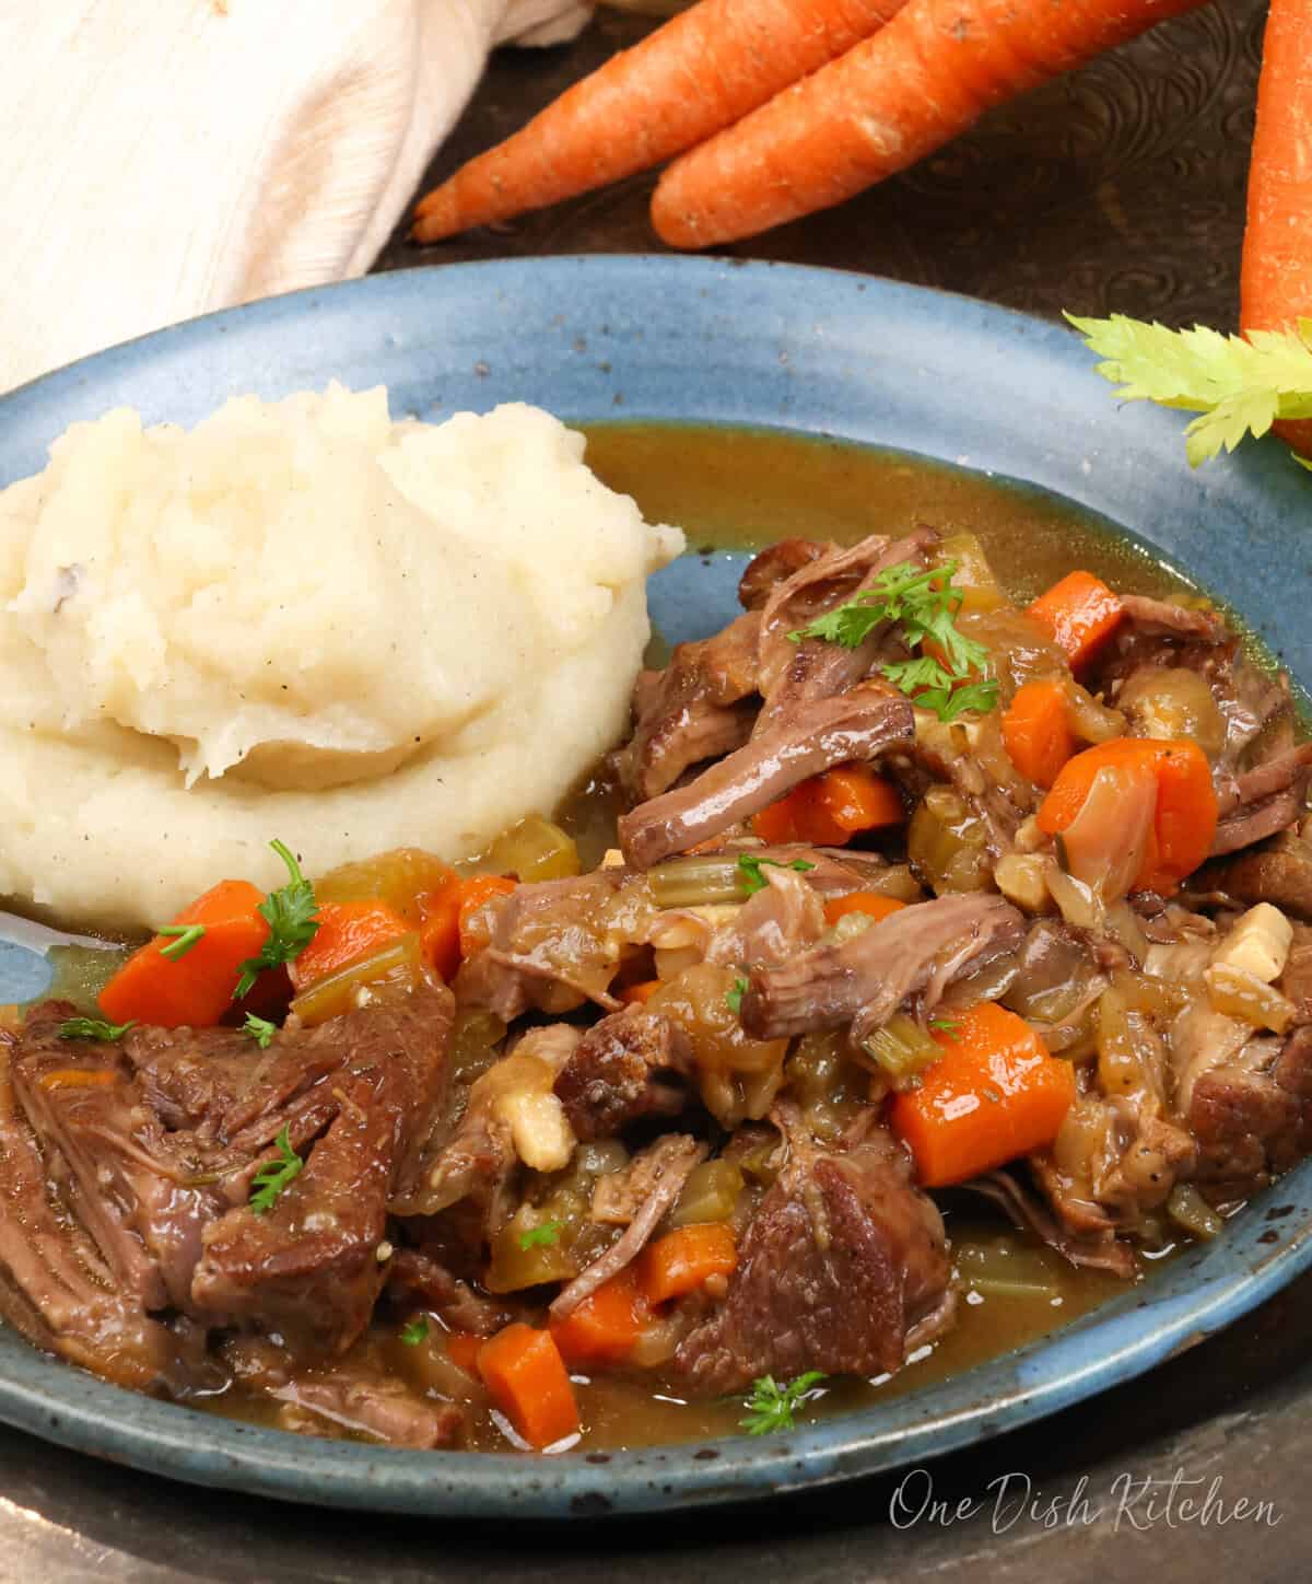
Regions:
<instances>
[{"instance_id":1,"label":"cooked carrot slice with translucent onion piece draped over its front","mask_svg":"<svg viewBox=\"0 0 1312 1584\"><path fill-rule=\"evenodd\" d=\"M1154 841L1135 881L1136 890L1170 893L1192 874L1217 833L1217 795L1208 756L1187 738L1114 737L1086 748L1062 767L1038 806L1038 827L1056 836L1084 806L1094 779L1108 765L1149 763L1157 776Z\"/></svg>"}]
</instances>

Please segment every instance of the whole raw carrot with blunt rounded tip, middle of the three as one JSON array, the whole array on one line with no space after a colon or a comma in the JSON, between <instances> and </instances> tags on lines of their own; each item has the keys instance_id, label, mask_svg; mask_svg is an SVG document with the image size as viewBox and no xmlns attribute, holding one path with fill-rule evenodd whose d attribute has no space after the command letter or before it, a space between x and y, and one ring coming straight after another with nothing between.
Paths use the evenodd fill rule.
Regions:
<instances>
[{"instance_id":1,"label":"whole raw carrot with blunt rounded tip, middle of the three","mask_svg":"<svg viewBox=\"0 0 1312 1584\"><path fill-rule=\"evenodd\" d=\"M652 223L671 247L712 247L828 209L992 106L1203 3L910 0L872 38L676 160Z\"/></svg>"}]
</instances>

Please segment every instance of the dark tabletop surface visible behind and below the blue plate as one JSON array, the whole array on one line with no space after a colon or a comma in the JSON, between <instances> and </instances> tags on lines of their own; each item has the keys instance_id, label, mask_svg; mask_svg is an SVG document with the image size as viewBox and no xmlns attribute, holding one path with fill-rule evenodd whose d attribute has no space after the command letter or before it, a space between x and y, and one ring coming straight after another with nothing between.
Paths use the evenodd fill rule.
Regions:
<instances>
[{"instance_id":1,"label":"dark tabletop surface visible behind and below the blue plate","mask_svg":"<svg viewBox=\"0 0 1312 1584\"><path fill-rule=\"evenodd\" d=\"M1261 14L1253 0L1214 5L994 116L926 168L739 252L1048 315L1121 309L1228 328ZM500 55L430 177L647 25L603 14L571 46ZM650 250L649 190L636 179L435 249L396 239L380 268ZM283 1508L0 1430L0 1584L738 1584L753 1570L788 1584L908 1573L1301 1584L1312 1578L1309 1331L1312 1278L1144 1380L905 1483L608 1527L510 1532Z\"/></svg>"}]
</instances>

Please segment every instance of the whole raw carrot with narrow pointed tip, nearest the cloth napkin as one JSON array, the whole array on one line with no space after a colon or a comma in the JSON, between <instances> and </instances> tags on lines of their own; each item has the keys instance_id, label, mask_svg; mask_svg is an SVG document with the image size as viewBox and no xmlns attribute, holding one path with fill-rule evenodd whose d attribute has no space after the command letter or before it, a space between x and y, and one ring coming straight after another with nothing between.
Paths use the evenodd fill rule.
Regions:
<instances>
[{"instance_id":1,"label":"whole raw carrot with narrow pointed tip, nearest the cloth napkin","mask_svg":"<svg viewBox=\"0 0 1312 1584\"><path fill-rule=\"evenodd\" d=\"M650 169L869 38L904 5L701 0L421 198L413 236L437 242Z\"/></svg>"}]
</instances>

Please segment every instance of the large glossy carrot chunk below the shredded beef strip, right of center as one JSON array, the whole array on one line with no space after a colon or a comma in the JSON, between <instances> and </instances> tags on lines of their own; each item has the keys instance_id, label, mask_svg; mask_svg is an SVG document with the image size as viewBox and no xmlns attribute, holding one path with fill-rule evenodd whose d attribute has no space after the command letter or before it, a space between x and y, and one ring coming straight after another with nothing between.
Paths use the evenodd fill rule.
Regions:
<instances>
[{"instance_id":1,"label":"large glossy carrot chunk below the shredded beef strip, right of center","mask_svg":"<svg viewBox=\"0 0 1312 1584\"><path fill-rule=\"evenodd\" d=\"M927 1188L945 1188L1051 1144L1075 1099L1075 1068L1051 1057L1014 1012L981 1001L943 1047L920 1088L897 1095L889 1121L910 1145Z\"/></svg>"}]
</instances>

